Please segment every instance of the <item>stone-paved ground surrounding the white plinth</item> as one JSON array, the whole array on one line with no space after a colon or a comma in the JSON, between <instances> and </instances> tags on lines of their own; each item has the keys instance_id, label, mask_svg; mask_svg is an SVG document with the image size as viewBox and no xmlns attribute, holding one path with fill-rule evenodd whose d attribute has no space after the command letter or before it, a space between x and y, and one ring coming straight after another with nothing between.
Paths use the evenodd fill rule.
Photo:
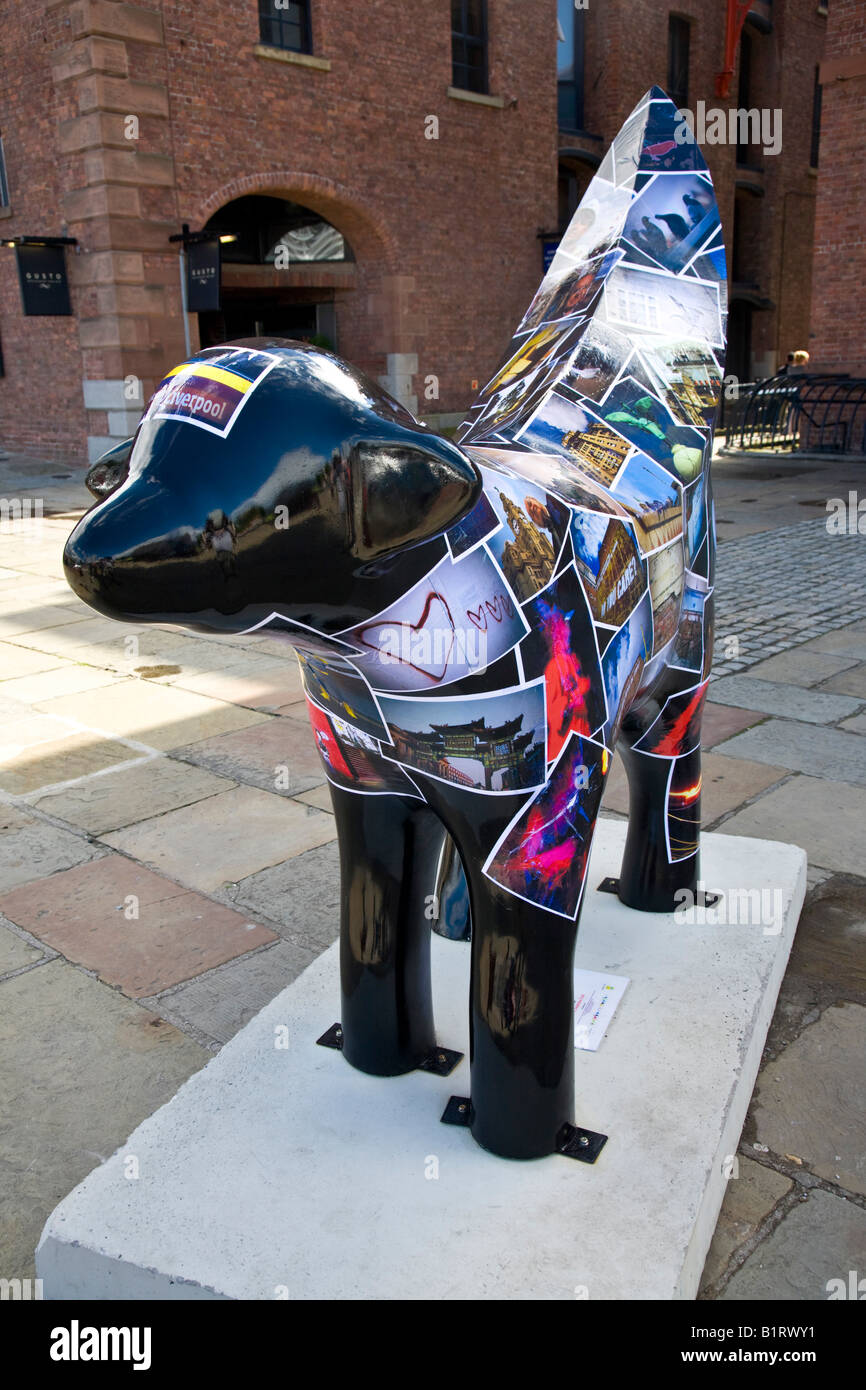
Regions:
<instances>
[{"instance_id":1,"label":"stone-paved ground surrounding the white plinth","mask_svg":"<svg viewBox=\"0 0 866 1390\"><path fill-rule=\"evenodd\" d=\"M703 823L803 845L810 891L706 1298L866 1275L866 539L826 527L862 467L716 464ZM338 855L285 648L96 617L60 569L78 478L0 468L46 499L0 534L0 1273L26 1277L60 1198L335 938Z\"/></svg>"}]
</instances>

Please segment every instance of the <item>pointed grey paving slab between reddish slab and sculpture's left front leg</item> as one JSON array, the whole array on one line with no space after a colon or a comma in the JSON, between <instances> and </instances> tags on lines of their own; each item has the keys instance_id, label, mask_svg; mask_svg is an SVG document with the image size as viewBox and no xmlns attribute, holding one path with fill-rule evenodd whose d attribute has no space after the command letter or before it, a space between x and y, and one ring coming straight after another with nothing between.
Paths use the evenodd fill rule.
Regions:
<instances>
[{"instance_id":1,"label":"pointed grey paving slab between reddish slab and sculpture's left front leg","mask_svg":"<svg viewBox=\"0 0 866 1390\"><path fill-rule=\"evenodd\" d=\"M336 841L242 878L229 890L229 898L239 912L267 917L286 941L296 941L318 955L339 935Z\"/></svg>"}]
</instances>

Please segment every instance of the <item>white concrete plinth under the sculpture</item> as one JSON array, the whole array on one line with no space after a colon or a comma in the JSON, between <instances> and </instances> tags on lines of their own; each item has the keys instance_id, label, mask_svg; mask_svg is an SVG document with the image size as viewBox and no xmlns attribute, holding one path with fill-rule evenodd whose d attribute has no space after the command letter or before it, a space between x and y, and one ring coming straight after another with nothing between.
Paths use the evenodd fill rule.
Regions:
<instances>
[{"instance_id":1,"label":"white concrete plinth under the sculpture","mask_svg":"<svg viewBox=\"0 0 866 1390\"><path fill-rule=\"evenodd\" d=\"M601 823L591 885L619 873L624 831ZM609 1134L595 1166L510 1162L441 1125L468 1061L381 1079L317 1047L339 1017L334 947L57 1207L44 1297L692 1298L806 856L705 835L702 866L708 888L770 890L765 906L778 890L778 930L588 890L577 963L631 979L601 1049L577 1054L577 1122ZM468 1051L468 948L435 937L434 962L439 1041Z\"/></svg>"}]
</instances>

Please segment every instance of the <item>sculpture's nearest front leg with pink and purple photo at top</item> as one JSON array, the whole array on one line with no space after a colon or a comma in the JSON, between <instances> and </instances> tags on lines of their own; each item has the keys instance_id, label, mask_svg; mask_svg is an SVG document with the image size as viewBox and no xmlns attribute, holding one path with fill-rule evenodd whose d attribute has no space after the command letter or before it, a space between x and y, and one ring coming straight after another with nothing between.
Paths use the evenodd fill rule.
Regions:
<instances>
[{"instance_id":1,"label":"sculpture's nearest front leg with pink and purple photo at top","mask_svg":"<svg viewBox=\"0 0 866 1390\"><path fill-rule=\"evenodd\" d=\"M563 1125L575 1122L571 913L602 783L594 774L585 815L571 796L562 821L546 792L516 823L514 805L499 812L489 799L442 808L470 890L470 1125L474 1138L503 1158L552 1154Z\"/></svg>"}]
</instances>

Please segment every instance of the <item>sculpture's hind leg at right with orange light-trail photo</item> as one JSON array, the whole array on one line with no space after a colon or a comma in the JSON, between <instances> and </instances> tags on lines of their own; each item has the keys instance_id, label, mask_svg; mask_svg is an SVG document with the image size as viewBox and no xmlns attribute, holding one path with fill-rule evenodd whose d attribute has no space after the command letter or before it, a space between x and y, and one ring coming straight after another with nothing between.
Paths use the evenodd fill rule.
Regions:
<instances>
[{"instance_id":1,"label":"sculpture's hind leg at right with orange light-trail photo","mask_svg":"<svg viewBox=\"0 0 866 1390\"><path fill-rule=\"evenodd\" d=\"M642 730L624 730L619 744L628 776L619 897L641 912L673 912L683 905L677 894L695 892L701 874L699 716L688 739L667 745L669 756L637 749L634 744L642 737Z\"/></svg>"}]
</instances>

